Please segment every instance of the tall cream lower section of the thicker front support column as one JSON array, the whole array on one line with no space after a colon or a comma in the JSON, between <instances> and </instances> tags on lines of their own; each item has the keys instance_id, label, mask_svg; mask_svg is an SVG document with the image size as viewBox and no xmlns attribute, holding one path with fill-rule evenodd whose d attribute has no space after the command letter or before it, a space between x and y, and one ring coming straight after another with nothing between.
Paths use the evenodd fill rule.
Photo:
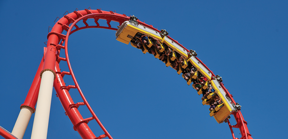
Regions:
<instances>
[{"instance_id":1,"label":"tall cream lower section of the thicker front support column","mask_svg":"<svg viewBox=\"0 0 288 139\"><path fill-rule=\"evenodd\" d=\"M52 99L54 74L44 71L41 78L31 139L46 139Z\"/></svg>"}]
</instances>

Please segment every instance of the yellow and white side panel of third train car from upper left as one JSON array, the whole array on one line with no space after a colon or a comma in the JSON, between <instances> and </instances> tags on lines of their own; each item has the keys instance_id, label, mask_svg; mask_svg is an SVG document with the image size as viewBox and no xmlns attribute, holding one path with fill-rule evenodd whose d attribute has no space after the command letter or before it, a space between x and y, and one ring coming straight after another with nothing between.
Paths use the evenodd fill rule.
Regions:
<instances>
[{"instance_id":1,"label":"yellow and white side panel of third train car from upper left","mask_svg":"<svg viewBox=\"0 0 288 139\"><path fill-rule=\"evenodd\" d=\"M207 78L207 81L211 80L212 73L210 73L210 71L208 71L208 69L205 68L194 56L191 56L190 59L188 59L188 62L191 62L192 65Z\"/></svg>"}]
</instances>

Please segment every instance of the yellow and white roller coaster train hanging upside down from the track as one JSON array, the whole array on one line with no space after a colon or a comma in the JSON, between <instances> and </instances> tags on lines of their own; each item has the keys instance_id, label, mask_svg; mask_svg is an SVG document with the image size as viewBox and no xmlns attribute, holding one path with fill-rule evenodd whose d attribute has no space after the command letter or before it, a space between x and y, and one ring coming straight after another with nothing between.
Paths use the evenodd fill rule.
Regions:
<instances>
[{"instance_id":1,"label":"yellow and white roller coaster train hanging upside down from the track","mask_svg":"<svg viewBox=\"0 0 288 139\"><path fill-rule=\"evenodd\" d=\"M125 44L129 44L129 42L133 39L133 37L137 33L145 34L148 36L148 38L152 37L153 39L158 39L160 41L159 44L161 46L161 48L159 49L160 52L163 52L167 47L170 47L171 49L174 50L173 52L175 52L175 53L173 53L173 56L171 56L170 58L167 58L165 61L165 65L167 67L171 66L170 59L173 61L176 59L176 57L178 57L178 55L176 53L182 55L184 57L184 59L188 58L187 51L184 48L182 48L180 45L178 45L176 42L173 42L167 36L163 36L163 38L162 38L158 31L152 30L152 29L147 28L143 25L131 24L129 21L125 21L122 23L122 25L116 31L115 36L116 36L116 40L123 42ZM148 47L151 47L153 45L151 38L148 39L147 41L149 42L149 43L147 43ZM135 44L133 44L133 43L130 43L130 44L133 47L137 48L137 46ZM142 52L144 54L148 52L148 47L146 45L143 45L143 47L141 47ZM157 57L159 58L159 55L160 55L159 51L155 51L156 55L154 55L154 56L156 58ZM207 78L207 81L211 80L211 73L208 72L208 70L205 68L205 66L202 65L194 56L191 56L189 59L187 59L187 61L184 60L184 64L181 67L182 68L186 68L186 67L191 68L192 66L197 68L196 73L193 74L193 76L192 76L193 79L196 79L197 75L199 73L201 73L202 75L204 75ZM177 71L178 74L181 73L180 69L181 68L179 68L179 70ZM182 77L183 77L183 75L182 75ZM192 81L192 79L191 79L191 81ZM191 81L189 81L189 82L191 82ZM222 123L236 109L232 106L232 104L230 102L228 102L226 97L224 97L226 95L226 93L220 87L220 84L218 83L218 81L217 80L213 80L213 81L211 80L210 83L215 90L214 93L216 93L219 97L222 98L222 104L218 105L216 107L217 109L215 108L215 110L211 111L210 116L213 116L218 123ZM195 88L195 85L192 85L192 86L193 86L193 88ZM203 89L207 88L206 86L207 85L203 85L199 89L199 91L198 91L199 95L202 94ZM213 93L211 93L211 97L208 96L208 99L209 98L211 99L213 97L212 95L213 95ZM205 100L205 101L207 102L208 100Z\"/></svg>"}]
</instances>

